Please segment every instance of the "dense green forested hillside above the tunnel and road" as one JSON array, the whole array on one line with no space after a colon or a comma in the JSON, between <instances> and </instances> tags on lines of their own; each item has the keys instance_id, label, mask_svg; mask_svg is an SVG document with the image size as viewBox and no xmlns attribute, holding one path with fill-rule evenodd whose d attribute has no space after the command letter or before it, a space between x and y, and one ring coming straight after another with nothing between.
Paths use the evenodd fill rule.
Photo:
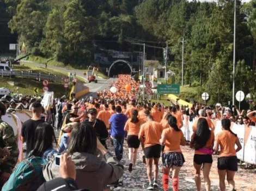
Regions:
<instances>
[{"instance_id":1,"label":"dense green forested hillside above the tunnel and road","mask_svg":"<svg viewBox=\"0 0 256 191\"><path fill-rule=\"evenodd\" d=\"M256 1L236 2L236 88L255 92ZM30 53L74 65L92 60L92 40L125 51L139 48L127 41L157 47L167 42L168 65L180 82L184 38L185 84L202 86L212 100L230 100L234 1L0 0L0 5L0 21ZM162 50L147 51L147 59L162 59Z\"/></svg>"}]
</instances>

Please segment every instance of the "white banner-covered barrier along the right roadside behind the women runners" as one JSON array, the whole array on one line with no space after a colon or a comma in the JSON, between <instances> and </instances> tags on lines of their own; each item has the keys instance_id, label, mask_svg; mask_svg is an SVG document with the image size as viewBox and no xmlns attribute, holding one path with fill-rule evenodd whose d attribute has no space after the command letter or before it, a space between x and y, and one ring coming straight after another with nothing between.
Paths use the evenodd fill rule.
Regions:
<instances>
[{"instance_id":1,"label":"white banner-covered barrier along the right roadside behind the women runners","mask_svg":"<svg viewBox=\"0 0 256 191\"><path fill-rule=\"evenodd\" d=\"M187 141L191 141L194 120L196 119L190 122L189 116L184 115L184 125L181 130ZM215 126L214 135L216 137L216 135L222 131L221 120L214 119L212 123ZM256 126L231 123L231 130L236 133L242 145L242 149L237 152L237 158L249 164L256 164Z\"/></svg>"}]
</instances>

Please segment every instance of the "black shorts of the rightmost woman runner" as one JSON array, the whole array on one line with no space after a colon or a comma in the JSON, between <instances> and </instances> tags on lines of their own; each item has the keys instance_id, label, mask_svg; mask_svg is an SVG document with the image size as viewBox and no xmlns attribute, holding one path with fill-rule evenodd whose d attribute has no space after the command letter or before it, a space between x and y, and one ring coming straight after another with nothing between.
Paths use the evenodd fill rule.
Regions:
<instances>
[{"instance_id":1,"label":"black shorts of the rightmost woman runner","mask_svg":"<svg viewBox=\"0 0 256 191\"><path fill-rule=\"evenodd\" d=\"M224 157L218 158L218 169L237 171L237 157L224 156Z\"/></svg>"}]
</instances>

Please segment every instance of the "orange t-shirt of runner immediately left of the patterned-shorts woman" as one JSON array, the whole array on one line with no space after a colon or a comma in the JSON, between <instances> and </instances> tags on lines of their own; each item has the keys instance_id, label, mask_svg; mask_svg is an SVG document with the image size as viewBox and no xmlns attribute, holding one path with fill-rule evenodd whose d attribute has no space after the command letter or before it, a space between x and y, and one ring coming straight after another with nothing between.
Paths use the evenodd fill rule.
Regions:
<instances>
[{"instance_id":1,"label":"orange t-shirt of runner immediately left of the patterned-shorts woman","mask_svg":"<svg viewBox=\"0 0 256 191\"><path fill-rule=\"evenodd\" d=\"M141 126L141 130L139 131L139 137L145 136L145 148L151 147L156 144L160 144L159 140L161 138L161 133L163 131L163 127L160 123L157 122L147 122Z\"/></svg>"}]
</instances>

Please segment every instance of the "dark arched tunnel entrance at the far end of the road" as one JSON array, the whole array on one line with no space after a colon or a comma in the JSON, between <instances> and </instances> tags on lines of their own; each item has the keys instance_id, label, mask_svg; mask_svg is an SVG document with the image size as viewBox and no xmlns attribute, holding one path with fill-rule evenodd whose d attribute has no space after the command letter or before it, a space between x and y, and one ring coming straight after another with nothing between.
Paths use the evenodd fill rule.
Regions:
<instances>
[{"instance_id":1,"label":"dark arched tunnel entrance at the far end of the road","mask_svg":"<svg viewBox=\"0 0 256 191\"><path fill-rule=\"evenodd\" d=\"M131 74L132 68L129 62L125 60L117 60L112 63L108 69L108 77L118 74Z\"/></svg>"}]
</instances>

